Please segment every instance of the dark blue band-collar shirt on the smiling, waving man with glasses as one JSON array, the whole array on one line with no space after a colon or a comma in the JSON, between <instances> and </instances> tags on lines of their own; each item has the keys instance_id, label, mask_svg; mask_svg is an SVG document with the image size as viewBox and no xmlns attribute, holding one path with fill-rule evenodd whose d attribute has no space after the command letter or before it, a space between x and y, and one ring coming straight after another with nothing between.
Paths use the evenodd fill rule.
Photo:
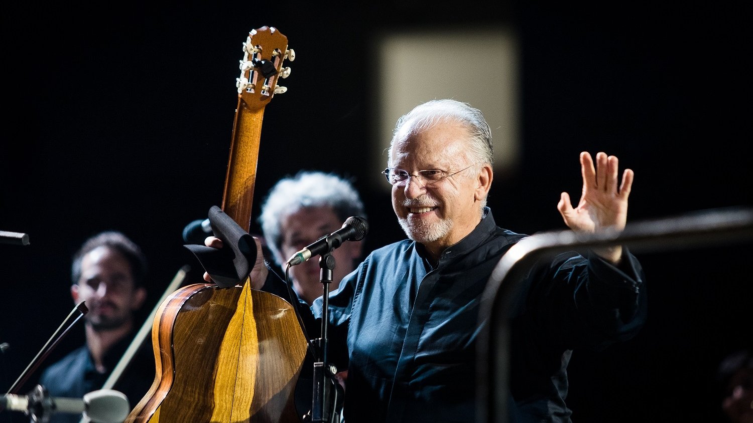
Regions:
<instances>
[{"instance_id":1,"label":"dark blue band-collar shirt on the smiling, waving man with glasses","mask_svg":"<svg viewBox=\"0 0 753 423\"><path fill-rule=\"evenodd\" d=\"M370 253L331 293L328 361L349 370L346 421L475 421L481 295L501 256L525 237L484 211L436 267L420 244L403 240ZM623 257L618 269L572 252L529 273L511 327L517 420L569 421L572 349L625 340L642 326L642 270ZM311 310L322 316L322 298Z\"/></svg>"}]
</instances>

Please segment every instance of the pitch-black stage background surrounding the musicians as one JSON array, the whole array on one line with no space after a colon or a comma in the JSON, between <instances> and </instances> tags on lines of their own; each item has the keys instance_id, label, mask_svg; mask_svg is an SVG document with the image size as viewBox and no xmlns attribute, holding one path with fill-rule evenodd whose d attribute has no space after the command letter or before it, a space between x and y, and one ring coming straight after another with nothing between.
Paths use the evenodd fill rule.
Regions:
<instances>
[{"instance_id":1,"label":"pitch-black stage background surrounding the musicians","mask_svg":"<svg viewBox=\"0 0 753 423\"><path fill-rule=\"evenodd\" d=\"M527 234L564 228L556 202L562 191L577 200L583 150L615 154L636 171L631 222L753 205L749 14L727 3L87 8L23 2L2 14L0 230L31 240L0 244L4 390L72 309L70 259L90 235L119 229L145 249L145 309L184 264L194 266L187 282L200 281L181 232L220 204L240 46L261 26L285 34L297 59L282 81L288 92L264 113L255 216L279 177L337 171L364 194L367 247L401 239L389 195L360 159L376 110L370 35L505 23L521 42L523 156L495 179L498 224ZM471 83L494 71L458 57L448 65ZM575 421L721 421L715 367L751 343L750 257L749 242L640 253L648 324L626 343L575 353ZM82 339L78 328L47 362Z\"/></svg>"}]
</instances>

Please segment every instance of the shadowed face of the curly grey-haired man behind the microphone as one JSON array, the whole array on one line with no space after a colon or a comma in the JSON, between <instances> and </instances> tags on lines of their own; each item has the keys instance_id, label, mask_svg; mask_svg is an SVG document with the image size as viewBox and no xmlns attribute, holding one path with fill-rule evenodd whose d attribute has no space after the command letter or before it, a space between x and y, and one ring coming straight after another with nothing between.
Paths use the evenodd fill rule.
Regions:
<instances>
[{"instance_id":1,"label":"shadowed face of the curly grey-haired man behind the microphone","mask_svg":"<svg viewBox=\"0 0 753 423\"><path fill-rule=\"evenodd\" d=\"M298 252L306 248L310 243L324 235L331 234L343 227L343 222L330 207L304 207L291 213L282 219L280 252L284 263ZM358 258L361 256L361 242L344 242L332 255L335 259L335 268L332 273L330 291L337 289L340 279L355 269ZM321 282L321 270L319 256L309 258L297 266L290 268L290 276L298 295L309 304L317 297L321 297L323 286Z\"/></svg>"}]
</instances>

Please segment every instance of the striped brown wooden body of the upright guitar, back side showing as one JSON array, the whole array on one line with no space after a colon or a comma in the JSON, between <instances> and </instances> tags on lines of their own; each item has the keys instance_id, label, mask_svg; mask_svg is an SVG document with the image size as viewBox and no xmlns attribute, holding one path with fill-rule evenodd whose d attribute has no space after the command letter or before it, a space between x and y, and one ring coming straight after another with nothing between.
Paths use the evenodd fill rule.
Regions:
<instances>
[{"instance_id":1,"label":"striped brown wooden body of the upright guitar, back side showing","mask_svg":"<svg viewBox=\"0 0 753 423\"><path fill-rule=\"evenodd\" d=\"M291 304L248 286L194 284L163 302L157 377L127 421L300 422L293 394L306 340Z\"/></svg>"}]
</instances>

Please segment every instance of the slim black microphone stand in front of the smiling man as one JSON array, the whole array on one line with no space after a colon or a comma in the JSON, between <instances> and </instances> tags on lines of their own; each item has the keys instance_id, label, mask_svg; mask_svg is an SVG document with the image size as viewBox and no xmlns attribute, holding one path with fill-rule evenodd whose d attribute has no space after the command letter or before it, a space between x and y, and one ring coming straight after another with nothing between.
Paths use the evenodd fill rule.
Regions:
<instances>
[{"instance_id":1,"label":"slim black microphone stand in front of the smiling man","mask_svg":"<svg viewBox=\"0 0 753 423\"><path fill-rule=\"evenodd\" d=\"M312 340L314 347L314 385L311 405L312 423L339 423L343 403L343 387L335 379L337 367L327 361L327 329L329 325L329 284L332 283L332 270L335 266L332 250L319 257L322 267L322 337Z\"/></svg>"}]
</instances>

